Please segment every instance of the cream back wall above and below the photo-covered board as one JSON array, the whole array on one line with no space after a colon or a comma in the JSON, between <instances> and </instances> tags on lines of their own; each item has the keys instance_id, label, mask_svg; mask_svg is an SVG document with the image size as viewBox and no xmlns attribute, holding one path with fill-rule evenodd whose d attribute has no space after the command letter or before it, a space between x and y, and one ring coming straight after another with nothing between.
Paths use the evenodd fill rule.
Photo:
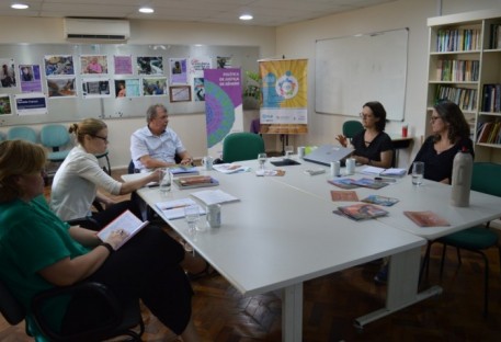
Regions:
<instances>
[{"instance_id":1,"label":"cream back wall above and below the photo-covered board","mask_svg":"<svg viewBox=\"0 0 501 342\"><path fill-rule=\"evenodd\" d=\"M1 36L0 44L67 43L62 35L61 19L0 16L0 32L9 32L9 34ZM128 43L259 46L260 58L263 58L273 56L275 53L275 29L137 20L130 22L130 39ZM258 64L255 69L258 70ZM166 105L169 107L169 103ZM254 116L253 113L249 115ZM170 126L181 136L183 144L194 157L202 157L207 153L205 113L177 115L175 112L171 111L169 118ZM248 121L244 122L248 124ZM126 167L130 160L130 134L138 127L146 125L146 122L144 118L136 117L106 119L106 123L112 169ZM39 130L42 125L31 126ZM0 127L1 132L8 129L9 127ZM271 141L272 145L273 142Z\"/></svg>"}]
</instances>

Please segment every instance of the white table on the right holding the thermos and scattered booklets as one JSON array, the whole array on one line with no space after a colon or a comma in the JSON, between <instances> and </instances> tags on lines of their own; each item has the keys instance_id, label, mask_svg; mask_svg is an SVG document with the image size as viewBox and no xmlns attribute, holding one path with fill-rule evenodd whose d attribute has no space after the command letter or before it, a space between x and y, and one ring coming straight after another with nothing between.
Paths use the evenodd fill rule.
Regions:
<instances>
[{"instance_id":1,"label":"white table on the right holding the thermos and scattered booklets","mask_svg":"<svg viewBox=\"0 0 501 342\"><path fill-rule=\"evenodd\" d=\"M328 180L331 179L329 174L329 168L304 160L298 161L301 162L300 166L282 168L283 170L286 170L285 175L274 176L273 180L288 184L298 191L309 193L310 195L332 203L330 191L342 189L328 183ZM269 168L271 167L269 166ZM326 169L326 173L312 176L304 173L304 170L314 168L323 168ZM365 166L357 167L355 174L342 175L338 179L374 179L374 174L371 175L361 172L364 168ZM343 173L344 171L344 168L342 168L341 172ZM356 192L358 200L363 200L364 197L373 194L398 198L399 202L395 205L390 207L384 207L389 212L389 215L386 217L379 217L377 220L397 229L409 231L428 240L435 240L445 235L501 217L500 197L471 191L469 206L455 207L449 204L451 185L423 180L423 184L421 186L414 186L412 185L410 175L396 178L395 183L389 183L389 185L379 190L357 187L354 189L354 191ZM341 206L349 205L351 202L337 202L335 204L337 206ZM446 219L451 226L426 228L419 227L403 215L405 210L432 210Z\"/></svg>"}]
</instances>

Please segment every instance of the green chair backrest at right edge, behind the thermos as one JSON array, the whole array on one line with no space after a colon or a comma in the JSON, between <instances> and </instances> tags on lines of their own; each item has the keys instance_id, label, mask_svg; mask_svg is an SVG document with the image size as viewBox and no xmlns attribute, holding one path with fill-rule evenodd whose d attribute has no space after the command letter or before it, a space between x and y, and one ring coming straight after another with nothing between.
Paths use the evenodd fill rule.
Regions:
<instances>
[{"instance_id":1,"label":"green chair backrest at right edge, behind the thermos","mask_svg":"<svg viewBox=\"0 0 501 342\"><path fill-rule=\"evenodd\" d=\"M501 197L501 164L474 162L471 190Z\"/></svg>"}]
</instances>

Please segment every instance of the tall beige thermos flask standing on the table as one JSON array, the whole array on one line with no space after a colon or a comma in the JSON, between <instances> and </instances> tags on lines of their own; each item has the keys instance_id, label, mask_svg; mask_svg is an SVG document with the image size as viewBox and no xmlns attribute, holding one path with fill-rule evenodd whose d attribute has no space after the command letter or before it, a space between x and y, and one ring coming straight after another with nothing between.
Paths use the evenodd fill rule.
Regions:
<instances>
[{"instance_id":1,"label":"tall beige thermos flask standing on the table","mask_svg":"<svg viewBox=\"0 0 501 342\"><path fill-rule=\"evenodd\" d=\"M466 148L457 152L453 162L451 204L458 207L469 206L474 158Z\"/></svg>"}]
</instances>

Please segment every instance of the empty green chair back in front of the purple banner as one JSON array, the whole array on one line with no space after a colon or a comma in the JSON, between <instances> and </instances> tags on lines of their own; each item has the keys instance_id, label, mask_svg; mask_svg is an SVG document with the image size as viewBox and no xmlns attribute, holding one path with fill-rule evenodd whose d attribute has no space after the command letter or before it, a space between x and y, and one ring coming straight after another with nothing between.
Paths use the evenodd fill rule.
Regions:
<instances>
[{"instance_id":1,"label":"empty green chair back in front of the purple banner","mask_svg":"<svg viewBox=\"0 0 501 342\"><path fill-rule=\"evenodd\" d=\"M224 162L257 159L262 152L264 152L264 140L258 134L231 133L223 141Z\"/></svg>"}]
</instances>

